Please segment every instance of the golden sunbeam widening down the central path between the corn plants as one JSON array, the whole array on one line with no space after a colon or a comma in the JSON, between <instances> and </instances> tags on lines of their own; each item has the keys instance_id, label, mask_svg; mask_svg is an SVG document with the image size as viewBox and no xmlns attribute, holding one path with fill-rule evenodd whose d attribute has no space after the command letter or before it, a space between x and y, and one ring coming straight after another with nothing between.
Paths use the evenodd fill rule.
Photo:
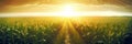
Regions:
<instances>
[{"instance_id":1,"label":"golden sunbeam widening down the central path between the corn plants","mask_svg":"<svg viewBox=\"0 0 132 44\"><path fill-rule=\"evenodd\" d=\"M85 44L79 33L70 22L70 19L64 19L64 24L56 36L54 44Z\"/></svg>"}]
</instances>

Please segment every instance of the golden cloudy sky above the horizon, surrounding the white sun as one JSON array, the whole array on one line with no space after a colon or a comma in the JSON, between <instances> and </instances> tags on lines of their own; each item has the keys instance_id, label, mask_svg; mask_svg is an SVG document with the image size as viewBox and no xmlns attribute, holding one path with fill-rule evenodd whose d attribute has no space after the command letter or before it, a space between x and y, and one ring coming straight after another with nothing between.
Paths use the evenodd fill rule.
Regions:
<instances>
[{"instance_id":1,"label":"golden cloudy sky above the horizon, surrounding the white sun","mask_svg":"<svg viewBox=\"0 0 132 44\"><path fill-rule=\"evenodd\" d=\"M132 12L132 0L0 0L0 13L59 11L64 4L79 11Z\"/></svg>"}]
</instances>

